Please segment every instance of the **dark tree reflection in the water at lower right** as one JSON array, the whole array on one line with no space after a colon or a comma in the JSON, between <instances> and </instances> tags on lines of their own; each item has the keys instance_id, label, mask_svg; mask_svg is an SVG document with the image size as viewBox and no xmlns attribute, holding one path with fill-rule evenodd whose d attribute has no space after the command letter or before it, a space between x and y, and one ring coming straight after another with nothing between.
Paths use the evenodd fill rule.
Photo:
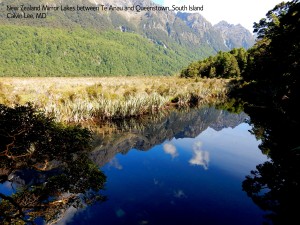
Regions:
<instances>
[{"instance_id":1,"label":"dark tree reflection in the water at lower right","mask_svg":"<svg viewBox=\"0 0 300 225\"><path fill-rule=\"evenodd\" d=\"M274 110L248 108L252 131L270 161L251 171L243 190L263 210L271 224L299 224L300 137L299 120Z\"/></svg>"}]
</instances>

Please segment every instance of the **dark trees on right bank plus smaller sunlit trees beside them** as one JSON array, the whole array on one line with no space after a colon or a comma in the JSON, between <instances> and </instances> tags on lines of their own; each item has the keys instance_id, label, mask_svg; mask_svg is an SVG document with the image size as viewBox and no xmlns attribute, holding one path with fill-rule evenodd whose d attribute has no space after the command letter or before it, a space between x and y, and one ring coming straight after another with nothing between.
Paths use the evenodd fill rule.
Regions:
<instances>
[{"instance_id":1,"label":"dark trees on right bank plus smaller sunlit trees beside them","mask_svg":"<svg viewBox=\"0 0 300 225\"><path fill-rule=\"evenodd\" d=\"M235 97L270 106L291 117L299 115L300 3L276 5L254 23L257 43L248 51L233 49L191 63L181 77L240 78ZM254 103L255 102L255 103Z\"/></svg>"}]
</instances>

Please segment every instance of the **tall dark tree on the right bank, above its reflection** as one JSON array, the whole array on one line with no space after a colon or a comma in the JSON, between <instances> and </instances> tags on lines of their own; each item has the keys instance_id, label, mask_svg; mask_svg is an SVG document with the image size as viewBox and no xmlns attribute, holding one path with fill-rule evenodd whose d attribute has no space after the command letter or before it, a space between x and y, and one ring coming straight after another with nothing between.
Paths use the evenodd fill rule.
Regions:
<instances>
[{"instance_id":1,"label":"tall dark tree on the right bank, above its reflection","mask_svg":"<svg viewBox=\"0 0 300 225\"><path fill-rule=\"evenodd\" d=\"M280 3L254 24L257 44L249 50L245 80L255 80L276 107L295 112L300 97L300 3ZM268 90L268 91L266 91Z\"/></svg>"}]
</instances>

